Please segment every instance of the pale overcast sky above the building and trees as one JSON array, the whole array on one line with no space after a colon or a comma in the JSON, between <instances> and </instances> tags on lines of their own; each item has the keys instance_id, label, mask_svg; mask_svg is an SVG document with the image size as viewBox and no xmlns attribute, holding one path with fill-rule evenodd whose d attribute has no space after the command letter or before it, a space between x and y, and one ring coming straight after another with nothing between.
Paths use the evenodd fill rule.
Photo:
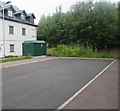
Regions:
<instances>
[{"instance_id":1,"label":"pale overcast sky above the building and trees","mask_svg":"<svg viewBox=\"0 0 120 111\"><path fill-rule=\"evenodd\" d=\"M1 0L9 1L9 0ZM36 16L35 23L37 24L40 17L48 14L53 14L56 11L56 7L62 6L63 12L69 10L70 6L79 2L80 0L10 0L13 5L17 6L21 10L25 10L26 13L34 13ZM118 1L118 0L111 0Z\"/></svg>"}]
</instances>

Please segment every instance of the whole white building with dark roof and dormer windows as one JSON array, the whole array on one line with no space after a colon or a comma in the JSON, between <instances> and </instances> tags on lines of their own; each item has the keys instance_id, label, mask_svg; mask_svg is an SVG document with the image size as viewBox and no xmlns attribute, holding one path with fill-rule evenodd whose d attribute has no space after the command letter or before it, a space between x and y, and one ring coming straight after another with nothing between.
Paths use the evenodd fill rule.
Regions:
<instances>
[{"instance_id":1,"label":"whole white building with dark roof and dormer windows","mask_svg":"<svg viewBox=\"0 0 120 111\"><path fill-rule=\"evenodd\" d=\"M5 12L3 29L3 5ZM27 14L14 5L5 5L0 1L0 57L8 55L21 56L22 43L26 40L36 40L36 25L33 13ZM5 40L3 38L5 32ZM5 43L5 44L4 44ZM5 51L4 51L5 47Z\"/></svg>"}]
</instances>

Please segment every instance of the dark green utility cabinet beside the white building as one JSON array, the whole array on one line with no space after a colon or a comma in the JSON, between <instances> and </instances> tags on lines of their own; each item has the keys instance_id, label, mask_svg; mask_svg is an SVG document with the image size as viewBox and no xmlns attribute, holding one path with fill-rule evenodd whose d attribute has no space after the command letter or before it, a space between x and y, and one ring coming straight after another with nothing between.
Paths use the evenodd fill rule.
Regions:
<instances>
[{"instance_id":1,"label":"dark green utility cabinet beside the white building","mask_svg":"<svg viewBox=\"0 0 120 111\"><path fill-rule=\"evenodd\" d=\"M22 43L23 56L43 56L46 55L45 41L24 41Z\"/></svg>"}]
</instances>

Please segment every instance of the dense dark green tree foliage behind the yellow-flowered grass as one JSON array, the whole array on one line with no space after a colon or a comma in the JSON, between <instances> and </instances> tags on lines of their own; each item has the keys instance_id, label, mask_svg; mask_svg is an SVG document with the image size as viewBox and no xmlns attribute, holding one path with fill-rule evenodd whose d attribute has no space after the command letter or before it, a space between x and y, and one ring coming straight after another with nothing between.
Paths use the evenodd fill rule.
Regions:
<instances>
[{"instance_id":1,"label":"dense dark green tree foliage behind the yellow-flowered grass","mask_svg":"<svg viewBox=\"0 0 120 111\"><path fill-rule=\"evenodd\" d=\"M116 4L80 2L66 13L60 6L52 16L42 16L37 35L38 40L45 40L50 47L78 43L101 50L117 47L118 32Z\"/></svg>"}]
</instances>

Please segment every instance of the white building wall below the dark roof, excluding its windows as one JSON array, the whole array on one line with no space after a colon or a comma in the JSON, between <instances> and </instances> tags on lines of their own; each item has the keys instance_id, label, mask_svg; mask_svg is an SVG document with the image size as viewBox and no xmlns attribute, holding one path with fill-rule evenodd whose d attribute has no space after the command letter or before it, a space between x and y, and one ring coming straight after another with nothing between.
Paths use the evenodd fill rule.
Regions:
<instances>
[{"instance_id":1,"label":"white building wall below the dark roof, excluding its windows","mask_svg":"<svg viewBox=\"0 0 120 111\"><path fill-rule=\"evenodd\" d=\"M5 20L5 55L22 55L22 43L26 40L36 40L36 27ZM14 34L9 34L9 26L14 26ZM22 35L22 28L26 28L26 36ZM10 52L10 44L14 44L14 52ZM3 24L0 19L0 57L3 56Z\"/></svg>"}]
</instances>

